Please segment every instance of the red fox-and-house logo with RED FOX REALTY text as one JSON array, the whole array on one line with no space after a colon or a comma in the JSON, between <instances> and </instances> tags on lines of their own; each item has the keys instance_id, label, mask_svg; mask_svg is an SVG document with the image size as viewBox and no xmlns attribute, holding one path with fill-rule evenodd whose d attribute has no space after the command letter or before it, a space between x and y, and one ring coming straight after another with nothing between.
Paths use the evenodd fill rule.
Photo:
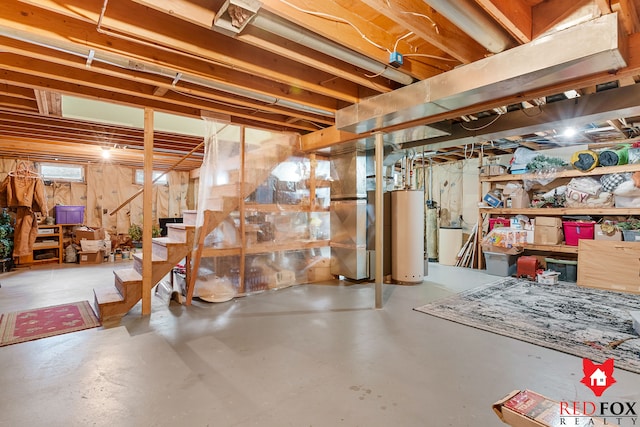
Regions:
<instances>
[{"instance_id":1,"label":"red fox-and-house logo with RED FOX REALTY text","mask_svg":"<svg viewBox=\"0 0 640 427\"><path fill-rule=\"evenodd\" d=\"M614 359L602 364L589 359L582 360L584 377L580 382L587 386L596 397L616 383L613 378ZM560 402L560 425L576 426L635 426L638 424L636 404L638 402L592 401Z\"/></svg>"}]
</instances>

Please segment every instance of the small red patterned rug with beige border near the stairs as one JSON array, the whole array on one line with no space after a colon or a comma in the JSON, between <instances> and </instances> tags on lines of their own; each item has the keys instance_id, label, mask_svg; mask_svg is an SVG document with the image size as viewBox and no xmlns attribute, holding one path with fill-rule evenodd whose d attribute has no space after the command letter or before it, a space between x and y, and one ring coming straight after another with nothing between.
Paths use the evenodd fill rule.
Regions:
<instances>
[{"instance_id":1,"label":"small red patterned rug with beige border near the stairs","mask_svg":"<svg viewBox=\"0 0 640 427\"><path fill-rule=\"evenodd\" d=\"M100 326L88 301L15 311L0 318L0 347Z\"/></svg>"}]
</instances>

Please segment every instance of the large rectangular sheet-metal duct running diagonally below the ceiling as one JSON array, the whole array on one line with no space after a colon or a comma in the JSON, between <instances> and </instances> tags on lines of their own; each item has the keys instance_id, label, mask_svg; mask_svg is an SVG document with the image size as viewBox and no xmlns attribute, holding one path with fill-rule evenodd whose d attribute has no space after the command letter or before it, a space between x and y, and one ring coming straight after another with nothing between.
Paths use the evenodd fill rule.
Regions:
<instances>
[{"instance_id":1,"label":"large rectangular sheet-metal duct running diagonally below the ceiling","mask_svg":"<svg viewBox=\"0 0 640 427\"><path fill-rule=\"evenodd\" d=\"M617 14L558 31L339 110L336 127L384 130L493 99L625 67ZM406 141L406 135L403 135Z\"/></svg>"}]
</instances>

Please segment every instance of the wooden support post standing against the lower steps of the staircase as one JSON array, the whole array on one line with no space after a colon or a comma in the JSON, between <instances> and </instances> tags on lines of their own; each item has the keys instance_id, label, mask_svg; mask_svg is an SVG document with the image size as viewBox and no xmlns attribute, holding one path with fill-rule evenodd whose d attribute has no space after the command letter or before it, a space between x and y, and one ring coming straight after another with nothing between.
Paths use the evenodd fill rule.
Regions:
<instances>
[{"instance_id":1,"label":"wooden support post standing against the lower steps of the staircase","mask_svg":"<svg viewBox=\"0 0 640 427\"><path fill-rule=\"evenodd\" d=\"M151 314L153 258L153 109L144 109L144 196L142 207L142 315Z\"/></svg>"}]
</instances>

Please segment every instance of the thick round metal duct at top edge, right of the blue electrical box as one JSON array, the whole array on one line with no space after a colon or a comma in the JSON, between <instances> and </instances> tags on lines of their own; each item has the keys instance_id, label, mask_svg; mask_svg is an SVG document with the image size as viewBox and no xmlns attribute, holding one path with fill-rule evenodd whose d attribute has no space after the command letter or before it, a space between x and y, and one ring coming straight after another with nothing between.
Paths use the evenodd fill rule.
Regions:
<instances>
[{"instance_id":1,"label":"thick round metal duct at top edge, right of the blue electrical box","mask_svg":"<svg viewBox=\"0 0 640 427\"><path fill-rule=\"evenodd\" d=\"M424 2L489 52L499 53L514 45L511 37L470 0L424 0Z\"/></svg>"}]
</instances>

